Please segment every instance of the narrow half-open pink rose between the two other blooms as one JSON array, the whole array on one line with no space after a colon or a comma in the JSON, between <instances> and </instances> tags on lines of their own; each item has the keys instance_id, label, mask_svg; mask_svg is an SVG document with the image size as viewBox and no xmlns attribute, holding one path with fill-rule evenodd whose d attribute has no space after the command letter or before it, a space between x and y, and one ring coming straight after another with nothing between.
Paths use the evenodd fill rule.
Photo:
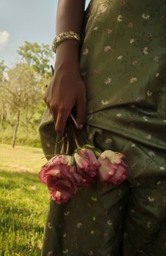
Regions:
<instances>
[{"instance_id":1,"label":"narrow half-open pink rose between the two other blooms","mask_svg":"<svg viewBox=\"0 0 166 256\"><path fill-rule=\"evenodd\" d=\"M87 148L82 148L74 154L74 157L78 173L84 178L85 183L91 183L100 165L94 152Z\"/></svg>"}]
</instances>

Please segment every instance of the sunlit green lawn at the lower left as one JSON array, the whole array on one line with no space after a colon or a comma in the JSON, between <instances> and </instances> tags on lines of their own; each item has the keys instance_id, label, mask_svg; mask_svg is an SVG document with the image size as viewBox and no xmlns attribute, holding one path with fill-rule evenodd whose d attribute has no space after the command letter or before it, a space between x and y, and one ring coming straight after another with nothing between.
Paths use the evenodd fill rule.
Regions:
<instances>
[{"instance_id":1,"label":"sunlit green lawn at the lower left","mask_svg":"<svg viewBox=\"0 0 166 256\"><path fill-rule=\"evenodd\" d=\"M49 193L41 149L0 145L0 256L39 256Z\"/></svg>"}]
</instances>

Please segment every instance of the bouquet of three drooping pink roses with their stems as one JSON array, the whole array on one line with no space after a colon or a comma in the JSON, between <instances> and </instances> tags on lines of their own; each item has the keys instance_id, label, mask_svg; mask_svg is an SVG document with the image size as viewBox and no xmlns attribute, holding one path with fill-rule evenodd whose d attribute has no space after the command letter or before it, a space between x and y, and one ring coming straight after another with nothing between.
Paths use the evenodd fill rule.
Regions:
<instances>
[{"instance_id":1,"label":"bouquet of three drooping pink roses with their stems","mask_svg":"<svg viewBox=\"0 0 166 256\"><path fill-rule=\"evenodd\" d=\"M68 202L79 189L89 186L96 178L103 185L119 185L127 179L127 165L123 154L85 144L80 147L75 133L75 120L70 116L67 133L63 136L60 154L53 156L39 172L39 180L49 189L51 200ZM74 138L76 149L68 154L68 133Z\"/></svg>"}]
</instances>

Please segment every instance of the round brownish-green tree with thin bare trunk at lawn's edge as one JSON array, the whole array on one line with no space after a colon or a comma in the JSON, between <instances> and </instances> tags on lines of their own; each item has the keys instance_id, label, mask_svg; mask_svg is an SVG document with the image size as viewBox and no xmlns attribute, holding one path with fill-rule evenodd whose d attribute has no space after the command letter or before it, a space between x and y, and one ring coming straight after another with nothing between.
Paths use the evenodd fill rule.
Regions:
<instances>
[{"instance_id":1,"label":"round brownish-green tree with thin bare trunk at lawn's edge","mask_svg":"<svg viewBox=\"0 0 166 256\"><path fill-rule=\"evenodd\" d=\"M27 63L18 63L8 71L8 81L5 83L6 106L13 121L13 142L18 132L20 118L23 112L33 111L39 104L41 89L37 83L37 73Z\"/></svg>"}]
</instances>

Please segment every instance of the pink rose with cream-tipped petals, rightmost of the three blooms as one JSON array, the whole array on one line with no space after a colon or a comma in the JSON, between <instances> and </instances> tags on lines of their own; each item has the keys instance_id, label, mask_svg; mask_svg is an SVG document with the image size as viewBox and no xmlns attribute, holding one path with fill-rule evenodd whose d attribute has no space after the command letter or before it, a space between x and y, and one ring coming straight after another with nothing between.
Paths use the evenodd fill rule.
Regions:
<instances>
[{"instance_id":1,"label":"pink rose with cream-tipped petals, rightmost of the three blooms","mask_svg":"<svg viewBox=\"0 0 166 256\"><path fill-rule=\"evenodd\" d=\"M108 186L110 183L119 185L127 179L127 165L122 161L123 154L111 150L104 151L98 161L98 175L101 183Z\"/></svg>"}]
</instances>

